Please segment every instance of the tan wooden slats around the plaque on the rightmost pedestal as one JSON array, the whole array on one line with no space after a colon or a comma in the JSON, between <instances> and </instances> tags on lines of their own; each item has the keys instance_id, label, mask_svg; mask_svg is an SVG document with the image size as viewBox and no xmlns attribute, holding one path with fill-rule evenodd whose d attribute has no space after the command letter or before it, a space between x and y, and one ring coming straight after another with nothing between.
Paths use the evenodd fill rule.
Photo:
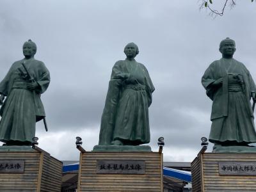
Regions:
<instances>
[{"instance_id":1,"label":"tan wooden slats around the plaque on the rightmost pedestal","mask_svg":"<svg viewBox=\"0 0 256 192\"><path fill-rule=\"evenodd\" d=\"M198 180L199 165L203 167L204 189L202 191L256 191L256 176L253 175L220 175L219 165L221 161L228 162L253 162L256 161L256 154L202 154L202 160L196 157L191 164L193 191L200 191L194 188ZM193 180L194 179L194 180ZM197 186L196 186L197 187Z\"/></svg>"}]
</instances>

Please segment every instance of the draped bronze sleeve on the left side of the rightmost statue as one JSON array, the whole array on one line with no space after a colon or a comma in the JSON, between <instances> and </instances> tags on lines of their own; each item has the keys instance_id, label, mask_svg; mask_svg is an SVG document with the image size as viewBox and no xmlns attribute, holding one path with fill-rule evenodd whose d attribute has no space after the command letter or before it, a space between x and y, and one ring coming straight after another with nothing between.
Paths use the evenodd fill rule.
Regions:
<instances>
[{"instance_id":1,"label":"draped bronze sleeve on the left side of the rightmost statue","mask_svg":"<svg viewBox=\"0 0 256 192\"><path fill-rule=\"evenodd\" d=\"M216 88L212 86L211 84L216 81L214 79L214 63L212 63L204 73L204 76L202 77L202 85L204 86L206 90L206 95L213 100L213 95L216 92Z\"/></svg>"}]
</instances>

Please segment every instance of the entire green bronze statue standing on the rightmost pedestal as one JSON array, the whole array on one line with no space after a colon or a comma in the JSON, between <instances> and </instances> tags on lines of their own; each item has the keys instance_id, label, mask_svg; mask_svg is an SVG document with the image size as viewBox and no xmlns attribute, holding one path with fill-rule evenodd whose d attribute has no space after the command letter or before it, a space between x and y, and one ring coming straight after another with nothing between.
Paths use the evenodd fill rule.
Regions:
<instances>
[{"instance_id":1,"label":"entire green bronze statue standing on the rightmost pedestal","mask_svg":"<svg viewBox=\"0 0 256 192\"><path fill-rule=\"evenodd\" d=\"M212 100L211 133L214 152L252 152L256 132L250 99L255 100L256 86L243 63L234 60L234 40L220 43L222 58L205 71L202 84ZM232 150L231 150L232 149ZM256 148L255 148L256 152Z\"/></svg>"}]
</instances>

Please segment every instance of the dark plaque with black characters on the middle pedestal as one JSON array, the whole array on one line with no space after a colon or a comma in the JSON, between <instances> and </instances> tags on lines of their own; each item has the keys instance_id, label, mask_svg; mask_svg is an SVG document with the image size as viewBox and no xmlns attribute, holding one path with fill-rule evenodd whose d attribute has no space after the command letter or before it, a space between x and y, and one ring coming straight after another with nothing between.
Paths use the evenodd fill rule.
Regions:
<instances>
[{"instance_id":1,"label":"dark plaque with black characters on the middle pedestal","mask_svg":"<svg viewBox=\"0 0 256 192\"><path fill-rule=\"evenodd\" d=\"M98 160L97 173L102 174L145 174L145 161Z\"/></svg>"}]
</instances>

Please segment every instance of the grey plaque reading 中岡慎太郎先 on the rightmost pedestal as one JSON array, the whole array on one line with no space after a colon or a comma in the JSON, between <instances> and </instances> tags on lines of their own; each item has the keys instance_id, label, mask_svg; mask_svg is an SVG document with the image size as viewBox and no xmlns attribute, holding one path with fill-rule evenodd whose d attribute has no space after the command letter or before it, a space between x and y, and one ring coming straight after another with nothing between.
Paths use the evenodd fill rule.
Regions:
<instances>
[{"instance_id":1,"label":"grey plaque reading \u4e2d\u5ca1\u614e\u592a\u90ce\u5148 on the rightmost pedestal","mask_svg":"<svg viewBox=\"0 0 256 192\"><path fill-rule=\"evenodd\" d=\"M256 162L219 162L220 175L256 175Z\"/></svg>"}]
</instances>

